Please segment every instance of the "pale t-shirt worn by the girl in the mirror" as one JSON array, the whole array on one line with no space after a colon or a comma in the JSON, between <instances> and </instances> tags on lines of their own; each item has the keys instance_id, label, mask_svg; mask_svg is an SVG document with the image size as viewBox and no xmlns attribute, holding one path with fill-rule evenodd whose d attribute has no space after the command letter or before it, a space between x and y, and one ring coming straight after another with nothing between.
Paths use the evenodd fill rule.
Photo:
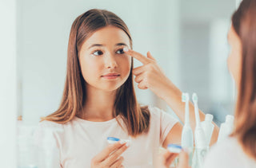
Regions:
<instances>
[{"instance_id":1,"label":"pale t-shirt worn by the girl in the mirror","mask_svg":"<svg viewBox=\"0 0 256 168\"><path fill-rule=\"evenodd\" d=\"M58 147L58 165L62 168L86 168L90 167L90 161L96 154L101 152L107 145L107 137L118 139L130 139L130 147L122 154L123 165L129 168L153 167L159 147L166 139L178 119L158 109L149 107L150 129L147 134L131 138L127 131L123 131L116 119L124 125L120 116L106 122L91 122L75 117L65 124L43 121L39 123L36 131L38 146L44 142L46 135L43 130L51 130L50 135ZM48 140L50 142L50 140Z\"/></svg>"}]
</instances>

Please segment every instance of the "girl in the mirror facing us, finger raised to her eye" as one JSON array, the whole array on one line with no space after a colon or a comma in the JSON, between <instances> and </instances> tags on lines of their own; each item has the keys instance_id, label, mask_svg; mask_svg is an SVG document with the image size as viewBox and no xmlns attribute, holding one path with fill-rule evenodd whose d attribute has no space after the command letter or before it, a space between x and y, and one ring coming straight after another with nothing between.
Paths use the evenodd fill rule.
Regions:
<instances>
[{"instance_id":1,"label":"girl in the mirror facing us, finger raised to her eye","mask_svg":"<svg viewBox=\"0 0 256 168\"><path fill-rule=\"evenodd\" d=\"M41 130L52 130L59 167L149 168L160 146L180 143L181 123L156 107L140 107L133 74L138 88L150 88L184 121L182 92L166 78L150 53L144 57L131 49L129 29L117 15L89 10L75 19L62 102L39 124ZM142 61L142 67L133 69L131 56ZM194 127L194 115L190 119ZM37 135L40 143L44 135L42 131ZM107 137L129 142L108 145Z\"/></svg>"}]
</instances>

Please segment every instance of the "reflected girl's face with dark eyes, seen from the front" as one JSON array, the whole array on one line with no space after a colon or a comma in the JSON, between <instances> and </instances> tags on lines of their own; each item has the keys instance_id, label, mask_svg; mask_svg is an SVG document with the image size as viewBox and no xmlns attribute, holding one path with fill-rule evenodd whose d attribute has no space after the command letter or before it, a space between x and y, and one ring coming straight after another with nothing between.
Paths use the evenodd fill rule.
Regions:
<instances>
[{"instance_id":1,"label":"reflected girl's face with dark eyes, seen from the front","mask_svg":"<svg viewBox=\"0 0 256 168\"><path fill-rule=\"evenodd\" d=\"M79 61L86 88L114 91L130 75L131 57L123 52L130 48L127 34L114 26L95 31L82 45Z\"/></svg>"}]
</instances>

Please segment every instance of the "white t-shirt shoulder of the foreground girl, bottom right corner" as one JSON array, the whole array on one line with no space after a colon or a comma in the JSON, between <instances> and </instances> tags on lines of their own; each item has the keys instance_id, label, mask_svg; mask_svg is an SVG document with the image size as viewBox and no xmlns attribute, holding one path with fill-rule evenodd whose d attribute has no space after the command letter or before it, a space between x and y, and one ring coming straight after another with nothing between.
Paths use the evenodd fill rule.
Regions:
<instances>
[{"instance_id":1,"label":"white t-shirt shoulder of the foreground girl, bottom right corner","mask_svg":"<svg viewBox=\"0 0 256 168\"><path fill-rule=\"evenodd\" d=\"M244 153L237 139L227 138L210 149L202 167L255 168L256 161Z\"/></svg>"}]
</instances>

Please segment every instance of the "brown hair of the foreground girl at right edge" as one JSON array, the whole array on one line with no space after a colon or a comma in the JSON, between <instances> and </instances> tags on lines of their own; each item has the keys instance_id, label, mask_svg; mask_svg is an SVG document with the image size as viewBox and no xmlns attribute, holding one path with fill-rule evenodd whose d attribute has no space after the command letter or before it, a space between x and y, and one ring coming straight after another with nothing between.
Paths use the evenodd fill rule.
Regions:
<instances>
[{"instance_id":1,"label":"brown hair of the foreground girl at right edge","mask_svg":"<svg viewBox=\"0 0 256 168\"><path fill-rule=\"evenodd\" d=\"M243 0L232 24L242 42L242 72L233 136L256 159L256 0Z\"/></svg>"}]
</instances>

